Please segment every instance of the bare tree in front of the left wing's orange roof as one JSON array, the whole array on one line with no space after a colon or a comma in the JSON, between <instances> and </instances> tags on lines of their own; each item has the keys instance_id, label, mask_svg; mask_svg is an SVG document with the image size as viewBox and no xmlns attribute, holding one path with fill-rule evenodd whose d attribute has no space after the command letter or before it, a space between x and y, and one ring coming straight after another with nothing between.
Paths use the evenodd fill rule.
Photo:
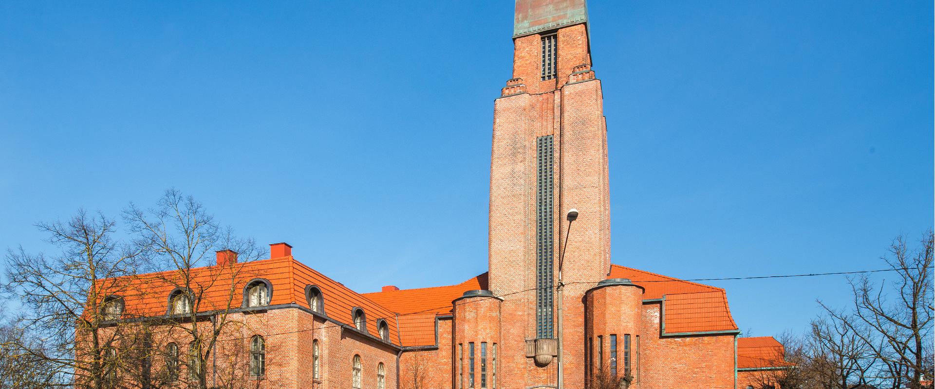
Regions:
<instances>
[{"instance_id":1,"label":"bare tree in front of the left wing's orange roof","mask_svg":"<svg viewBox=\"0 0 935 389\"><path fill-rule=\"evenodd\" d=\"M244 264L261 257L261 251L252 240L235 238L200 202L175 189L166 190L152 209L131 204L124 216L137 234L137 243L145 248L151 270L161 271L147 277L151 282L171 285L178 293L170 301L170 313L152 322L151 327L161 332L157 335L161 339L179 340L180 354L185 356L179 362L189 372L190 387L234 387L236 378L218 381L237 372L241 376L247 373L242 368L244 348L230 340L243 340L239 335L247 324L244 313L239 313L241 292L245 282L257 275L249 273ZM215 252L224 250L230 250L226 253L231 260L216 263ZM231 344L223 347L223 342ZM221 350L233 354L218 355ZM217 366L219 356L223 367ZM240 382L249 385L249 380Z\"/></svg>"}]
</instances>

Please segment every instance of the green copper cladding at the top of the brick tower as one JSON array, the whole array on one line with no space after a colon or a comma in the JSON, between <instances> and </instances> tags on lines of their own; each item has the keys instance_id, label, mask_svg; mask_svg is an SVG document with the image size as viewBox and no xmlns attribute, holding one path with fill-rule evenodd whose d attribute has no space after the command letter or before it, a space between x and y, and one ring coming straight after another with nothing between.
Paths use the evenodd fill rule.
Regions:
<instances>
[{"instance_id":1,"label":"green copper cladding at the top of the brick tower","mask_svg":"<svg viewBox=\"0 0 935 389\"><path fill-rule=\"evenodd\" d=\"M513 37L586 22L584 0L516 0Z\"/></svg>"}]
</instances>

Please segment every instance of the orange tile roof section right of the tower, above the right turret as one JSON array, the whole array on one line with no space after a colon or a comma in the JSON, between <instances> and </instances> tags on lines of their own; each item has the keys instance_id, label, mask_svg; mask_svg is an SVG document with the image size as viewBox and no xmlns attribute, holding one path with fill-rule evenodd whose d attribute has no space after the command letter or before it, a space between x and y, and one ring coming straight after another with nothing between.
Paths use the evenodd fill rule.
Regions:
<instances>
[{"instance_id":1,"label":"orange tile roof section right of the tower, above the right turret","mask_svg":"<svg viewBox=\"0 0 935 389\"><path fill-rule=\"evenodd\" d=\"M738 329L722 288L620 265L611 265L607 278L628 278L633 284L644 287L643 299L665 296L666 333Z\"/></svg>"}]
</instances>

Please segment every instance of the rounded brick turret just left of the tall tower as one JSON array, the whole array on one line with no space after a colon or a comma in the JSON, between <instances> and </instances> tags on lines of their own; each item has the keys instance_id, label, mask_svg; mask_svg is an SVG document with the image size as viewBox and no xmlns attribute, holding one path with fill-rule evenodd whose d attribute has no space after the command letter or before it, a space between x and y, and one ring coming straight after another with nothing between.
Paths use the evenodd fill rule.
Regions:
<instances>
[{"instance_id":1,"label":"rounded brick turret just left of the tall tower","mask_svg":"<svg viewBox=\"0 0 935 389\"><path fill-rule=\"evenodd\" d=\"M454 388L487 387L493 379L502 302L489 290L468 290L452 301Z\"/></svg>"}]
</instances>

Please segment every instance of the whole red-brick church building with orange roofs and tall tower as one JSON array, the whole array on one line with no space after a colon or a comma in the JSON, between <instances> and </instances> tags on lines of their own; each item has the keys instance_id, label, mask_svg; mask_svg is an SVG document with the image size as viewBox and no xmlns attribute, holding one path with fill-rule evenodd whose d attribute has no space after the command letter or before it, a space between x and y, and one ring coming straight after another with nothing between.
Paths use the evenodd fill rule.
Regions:
<instances>
[{"instance_id":1,"label":"whole red-brick church building with orange roofs and tall tower","mask_svg":"<svg viewBox=\"0 0 935 389\"><path fill-rule=\"evenodd\" d=\"M251 262L218 252L195 278L223 266L251 274L211 286L243 293L228 307L243 326L214 347L242 343L250 385L561 389L611 376L640 389L742 389L752 372L783 366L772 338L739 338L724 289L611 263L607 129L584 0L516 0L512 39L512 76L494 104L489 271L358 293L286 243ZM178 287L146 289L155 297L123 298L118 314L171 320L194 305ZM194 320L212 320L218 294L190 296L204 300ZM184 354L179 336L151 342ZM153 368L179 369L184 382L185 369L218 367Z\"/></svg>"}]
</instances>

